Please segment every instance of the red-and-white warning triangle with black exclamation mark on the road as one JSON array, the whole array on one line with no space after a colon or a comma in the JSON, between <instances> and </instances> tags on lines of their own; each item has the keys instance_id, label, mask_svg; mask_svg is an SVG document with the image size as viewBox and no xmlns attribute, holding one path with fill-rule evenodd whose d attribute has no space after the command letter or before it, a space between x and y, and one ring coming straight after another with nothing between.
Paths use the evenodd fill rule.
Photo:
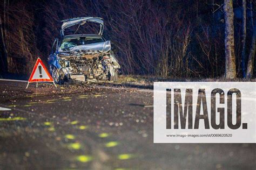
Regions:
<instances>
[{"instance_id":1,"label":"red-and-white warning triangle with black exclamation mark on the road","mask_svg":"<svg viewBox=\"0 0 256 170\"><path fill-rule=\"evenodd\" d=\"M40 58L36 60L36 64L32 70L32 73L29 77L29 82L42 82L42 81L47 81L47 82L53 82L53 79L46 69L44 63Z\"/></svg>"}]
</instances>

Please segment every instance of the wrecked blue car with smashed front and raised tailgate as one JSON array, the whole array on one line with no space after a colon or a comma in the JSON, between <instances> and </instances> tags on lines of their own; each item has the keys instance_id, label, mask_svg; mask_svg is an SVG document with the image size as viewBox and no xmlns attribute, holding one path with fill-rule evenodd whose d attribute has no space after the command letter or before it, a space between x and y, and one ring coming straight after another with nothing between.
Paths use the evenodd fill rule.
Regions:
<instances>
[{"instance_id":1,"label":"wrecked blue car with smashed front and raised tailgate","mask_svg":"<svg viewBox=\"0 0 256 170\"><path fill-rule=\"evenodd\" d=\"M111 42L103 37L103 19L97 17L72 18L62 21L61 39L53 42L48 58L50 72L56 83L69 79L118 80L120 65L111 50ZM87 22L100 25L98 34L76 34ZM65 30L77 26L74 34L65 36Z\"/></svg>"}]
</instances>

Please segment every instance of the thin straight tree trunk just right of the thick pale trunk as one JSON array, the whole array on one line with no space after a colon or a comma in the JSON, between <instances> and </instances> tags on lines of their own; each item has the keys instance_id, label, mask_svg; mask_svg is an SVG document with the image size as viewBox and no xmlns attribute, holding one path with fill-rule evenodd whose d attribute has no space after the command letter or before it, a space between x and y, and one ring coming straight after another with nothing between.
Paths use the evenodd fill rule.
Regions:
<instances>
[{"instance_id":1,"label":"thin straight tree trunk just right of the thick pale trunk","mask_svg":"<svg viewBox=\"0 0 256 170\"><path fill-rule=\"evenodd\" d=\"M246 77L245 68L245 41L246 41L246 0L242 0L242 77Z\"/></svg>"}]
</instances>

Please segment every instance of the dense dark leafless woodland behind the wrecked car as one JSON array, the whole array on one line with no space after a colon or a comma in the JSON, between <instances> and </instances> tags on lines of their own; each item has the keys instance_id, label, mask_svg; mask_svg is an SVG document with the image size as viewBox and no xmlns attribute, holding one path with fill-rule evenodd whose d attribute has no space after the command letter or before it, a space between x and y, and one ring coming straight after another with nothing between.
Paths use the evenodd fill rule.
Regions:
<instances>
[{"instance_id":1,"label":"dense dark leafless woodland behind the wrecked car","mask_svg":"<svg viewBox=\"0 0 256 170\"><path fill-rule=\"evenodd\" d=\"M255 6L254 0L1 0L0 70L29 74L38 56L46 62L61 20L93 16L104 19L103 35L124 74L251 77Z\"/></svg>"}]
</instances>

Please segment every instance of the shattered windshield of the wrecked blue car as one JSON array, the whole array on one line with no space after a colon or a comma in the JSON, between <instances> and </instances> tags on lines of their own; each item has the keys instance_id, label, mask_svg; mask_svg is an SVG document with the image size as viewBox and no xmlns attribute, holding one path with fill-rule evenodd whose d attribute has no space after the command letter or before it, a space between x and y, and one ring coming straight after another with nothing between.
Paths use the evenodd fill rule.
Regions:
<instances>
[{"instance_id":1,"label":"shattered windshield of the wrecked blue car","mask_svg":"<svg viewBox=\"0 0 256 170\"><path fill-rule=\"evenodd\" d=\"M71 47L78 45L92 44L96 42L103 42L102 37L76 37L76 38L65 38L62 40L60 45L60 51L69 50Z\"/></svg>"}]
</instances>

